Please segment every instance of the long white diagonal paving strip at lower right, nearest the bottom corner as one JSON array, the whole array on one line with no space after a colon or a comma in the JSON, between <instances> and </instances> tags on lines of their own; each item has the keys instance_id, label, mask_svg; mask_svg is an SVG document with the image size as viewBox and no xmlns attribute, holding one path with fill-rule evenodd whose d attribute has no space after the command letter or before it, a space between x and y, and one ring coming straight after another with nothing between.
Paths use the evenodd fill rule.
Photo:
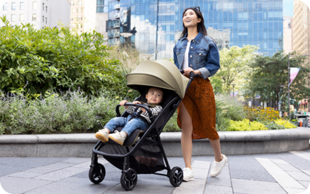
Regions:
<instances>
[{"instance_id":1,"label":"long white diagonal paving strip at lower right, nearest the bottom corner","mask_svg":"<svg viewBox=\"0 0 310 194\"><path fill-rule=\"evenodd\" d=\"M281 185L281 187L302 189L303 186L293 179L287 172L266 158L256 158L268 173Z\"/></svg>"}]
</instances>

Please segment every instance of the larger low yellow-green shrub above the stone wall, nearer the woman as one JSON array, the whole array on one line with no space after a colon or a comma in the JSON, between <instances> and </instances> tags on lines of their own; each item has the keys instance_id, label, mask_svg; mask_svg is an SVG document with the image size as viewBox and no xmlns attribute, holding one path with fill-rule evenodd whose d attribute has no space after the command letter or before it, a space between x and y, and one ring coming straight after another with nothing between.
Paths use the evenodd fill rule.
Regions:
<instances>
[{"instance_id":1,"label":"larger low yellow-green shrub above the stone wall, nearer the woman","mask_svg":"<svg viewBox=\"0 0 310 194\"><path fill-rule=\"evenodd\" d=\"M228 130L230 131L251 131L251 130L267 130L268 128L264 126L264 124L253 121L251 122L249 119L243 119L242 121L232 121L230 120L230 125L228 126Z\"/></svg>"}]
</instances>

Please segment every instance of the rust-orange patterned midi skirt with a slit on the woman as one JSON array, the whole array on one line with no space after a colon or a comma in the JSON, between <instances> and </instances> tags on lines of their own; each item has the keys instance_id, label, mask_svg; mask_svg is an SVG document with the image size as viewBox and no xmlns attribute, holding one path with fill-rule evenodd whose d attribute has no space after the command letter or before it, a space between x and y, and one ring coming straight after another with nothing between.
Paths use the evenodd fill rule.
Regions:
<instances>
[{"instance_id":1,"label":"rust-orange patterned midi skirt with a slit on the woman","mask_svg":"<svg viewBox=\"0 0 310 194\"><path fill-rule=\"evenodd\" d=\"M196 76L186 91L182 102L192 118L192 139L219 139L219 134L215 130L215 97L210 80ZM182 126L179 119L179 108L178 126L180 128Z\"/></svg>"}]
</instances>

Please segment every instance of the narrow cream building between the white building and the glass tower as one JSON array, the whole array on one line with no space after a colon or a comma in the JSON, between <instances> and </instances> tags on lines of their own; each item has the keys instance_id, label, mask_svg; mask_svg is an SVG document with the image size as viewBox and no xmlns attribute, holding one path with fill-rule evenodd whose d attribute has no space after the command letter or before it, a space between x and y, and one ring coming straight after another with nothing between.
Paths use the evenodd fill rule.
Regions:
<instances>
[{"instance_id":1,"label":"narrow cream building between the white building and the glass tower","mask_svg":"<svg viewBox=\"0 0 310 194\"><path fill-rule=\"evenodd\" d=\"M71 0L70 5L70 30L78 34L95 30L96 0Z\"/></svg>"}]
</instances>

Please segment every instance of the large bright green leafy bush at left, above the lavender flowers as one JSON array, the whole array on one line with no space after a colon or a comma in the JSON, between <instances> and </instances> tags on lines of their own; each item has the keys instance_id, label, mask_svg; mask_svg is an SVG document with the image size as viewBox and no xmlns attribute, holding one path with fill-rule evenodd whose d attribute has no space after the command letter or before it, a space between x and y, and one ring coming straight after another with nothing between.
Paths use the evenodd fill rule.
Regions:
<instances>
[{"instance_id":1,"label":"large bright green leafy bush at left, above the lavender flowers","mask_svg":"<svg viewBox=\"0 0 310 194\"><path fill-rule=\"evenodd\" d=\"M6 17L1 19L5 26L0 28L0 90L25 87L35 98L50 88L80 88L86 95L104 88L112 95L131 97L120 63L108 59L111 48L100 33L75 35L69 28L37 30L31 24L12 27Z\"/></svg>"}]
</instances>

